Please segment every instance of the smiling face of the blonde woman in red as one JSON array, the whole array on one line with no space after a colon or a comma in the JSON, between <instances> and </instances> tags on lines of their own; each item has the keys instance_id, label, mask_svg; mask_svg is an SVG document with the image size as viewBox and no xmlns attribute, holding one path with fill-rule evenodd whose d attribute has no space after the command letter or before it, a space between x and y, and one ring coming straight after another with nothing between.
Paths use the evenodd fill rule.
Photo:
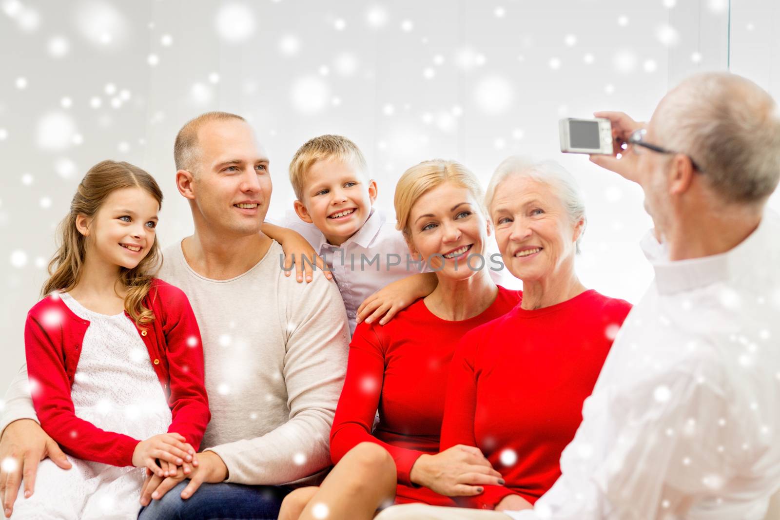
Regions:
<instances>
[{"instance_id":1,"label":"smiling face of the blonde woman in red","mask_svg":"<svg viewBox=\"0 0 780 520\"><path fill-rule=\"evenodd\" d=\"M409 226L412 253L440 278L470 278L484 263L477 255L484 258L490 224L468 188L442 182L429 189L413 203Z\"/></svg>"}]
</instances>

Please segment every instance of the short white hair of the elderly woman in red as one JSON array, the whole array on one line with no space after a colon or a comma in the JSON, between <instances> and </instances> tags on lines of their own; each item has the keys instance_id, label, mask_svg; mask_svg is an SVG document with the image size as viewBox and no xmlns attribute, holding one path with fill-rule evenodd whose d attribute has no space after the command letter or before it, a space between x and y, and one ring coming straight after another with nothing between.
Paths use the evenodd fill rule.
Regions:
<instances>
[{"instance_id":1,"label":"short white hair of the elderly woman in red","mask_svg":"<svg viewBox=\"0 0 780 520\"><path fill-rule=\"evenodd\" d=\"M510 175L534 179L536 182L550 186L563 203L563 207L566 208L566 213L569 214L573 224L583 221L583 229L576 242L576 253L579 254L587 217L580 186L577 185L574 176L555 161L536 162L530 157L520 155L507 157L501 164L498 164L498 168L495 168L495 173L488 184L488 190L485 192L485 206L488 207L488 212L491 210L496 188Z\"/></svg>"}]
</instances>

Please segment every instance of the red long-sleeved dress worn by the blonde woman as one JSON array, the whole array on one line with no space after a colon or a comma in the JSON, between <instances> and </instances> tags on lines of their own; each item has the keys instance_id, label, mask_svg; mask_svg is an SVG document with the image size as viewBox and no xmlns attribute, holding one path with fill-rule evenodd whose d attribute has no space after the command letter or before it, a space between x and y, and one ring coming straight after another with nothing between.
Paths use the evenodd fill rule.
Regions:
<instances>
[{"instance_id":1,"label":"red long-sleeved dress worn by the blonde woman","mask_svg":"<svg viewBox=\"0 0 780 520\"><path fill-rule=\"evenodd\" d=\"M395 459L397 503L456 505L450 497L412 486L409 473L420 455L438 453L447 374L458 341L518 301L519 292L499 287L495 302L468 320L442 320L419 299L384 326L358 325L331 430L333 462L360 442L375 442ZM372 434L377 411L380 421Z\"/></svg>"}]
</instances>

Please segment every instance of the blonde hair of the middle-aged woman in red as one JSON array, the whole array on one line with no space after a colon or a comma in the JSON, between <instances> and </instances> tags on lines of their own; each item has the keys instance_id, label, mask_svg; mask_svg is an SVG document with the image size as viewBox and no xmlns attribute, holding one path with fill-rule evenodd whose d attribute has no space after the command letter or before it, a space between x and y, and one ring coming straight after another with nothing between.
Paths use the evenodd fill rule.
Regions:
<instances>
[{"instance_id":1,"label":"blonde hair of the middle-aged woman in red","mask_svg":"<svg viewBox=\"0 0 780 520\"><path fill-rule=\"evenodd\" d=\"M484 191L477 175L457 161L444 159L423 161L403 172L395 186L395 228L403 233L406 242L411 242L412 238L409 216L414 203L424 193L445 182L452 182L455 186L468 189L482 214L486 219L488 218L488 211L485 210L483 202Z\"/></svg>"}]
</instances>

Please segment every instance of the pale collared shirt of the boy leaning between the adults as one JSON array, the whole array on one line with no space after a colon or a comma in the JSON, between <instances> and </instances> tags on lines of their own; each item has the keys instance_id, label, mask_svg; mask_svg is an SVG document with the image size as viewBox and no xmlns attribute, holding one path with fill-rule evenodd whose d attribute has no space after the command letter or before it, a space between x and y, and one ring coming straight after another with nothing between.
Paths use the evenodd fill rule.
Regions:
<instances>
[{"instance_id":1,"label":"pale collared shirt of the boy leaning between the adults","mask_svg":"<svg viewBox=\"0 0 780 520\"><path fill-rule=\"evenodd\" d=\"M372 209L363 227L341 246L329 244L328 239L316 226L300 220L293 210L288 210L281 222L266 220L300 233L314 251L324 258L336 284L339 285L350 333L354 333L357 326L357 309L368 296L393 281L411 274L431 271L426 264L414 261L402 232L395 229L395 220L388 219L383 210ZM492 237L488 241L487 249L491 253L496 250ZM503 264L501 271L490 269L499 267L498 263L490 260L490 256L485 255L485 268L490 272L493 281L513 288L512 280L508 280L505 274L508 271ZM500 261L500 258L498 260ZM475 260L473 266L477 265Z\"/></svg>"}]
</instances>

